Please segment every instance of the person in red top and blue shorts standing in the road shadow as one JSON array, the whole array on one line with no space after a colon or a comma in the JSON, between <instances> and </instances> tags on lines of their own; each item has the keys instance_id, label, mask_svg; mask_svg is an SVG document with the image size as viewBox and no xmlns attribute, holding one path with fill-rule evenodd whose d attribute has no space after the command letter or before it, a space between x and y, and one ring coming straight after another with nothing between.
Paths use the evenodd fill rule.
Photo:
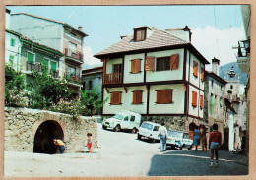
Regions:
<instances>
[{"instance_id":1,"label":"person in red top and blue shorts standing in the road shadow","mask_svg":"<svg viewBox=\"0 0 256 180\"><path fill-rule=\"evenodd\" d=\"M218 166L218 150L222 144L222 133L218 131L218 125L213 124L213 131L209 136L209 149L211 149L211 164L214 166L214 154L216 157L216 166Z\"/></svg>"}]
</instances>

